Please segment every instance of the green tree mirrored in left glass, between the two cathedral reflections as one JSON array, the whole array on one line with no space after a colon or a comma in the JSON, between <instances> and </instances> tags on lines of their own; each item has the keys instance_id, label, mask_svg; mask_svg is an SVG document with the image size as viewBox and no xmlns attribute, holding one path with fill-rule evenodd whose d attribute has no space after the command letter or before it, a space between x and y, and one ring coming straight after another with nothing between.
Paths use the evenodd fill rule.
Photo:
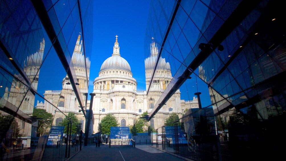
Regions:
<instances>
[{"instance_id":1,"label":"green tree mirrored in left glass, between the two cathedral reflections","mask_svg":"<svg viewBox=\"0 0 286 161\"><path fill-rule=\"evenodd\" d=\"M34 108L33 117L41 118L37 128L37 136L48 134L48 129L51 128L53 123L53 115L45 109Z\"/></svg>"}]
</instances>

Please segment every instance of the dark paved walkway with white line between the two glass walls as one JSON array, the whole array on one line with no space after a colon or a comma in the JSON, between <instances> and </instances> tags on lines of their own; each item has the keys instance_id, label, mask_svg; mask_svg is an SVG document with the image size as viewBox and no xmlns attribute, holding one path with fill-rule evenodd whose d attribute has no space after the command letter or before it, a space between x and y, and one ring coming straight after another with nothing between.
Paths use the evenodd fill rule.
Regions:
<instances>
[{"instance_id":1,"label":"dark paved walkway with white line between the two glass walls","mask_svg":"<svg viewBox=\"0 0 286 161\"><path fill-rule=\"evenodd\" d=\"M109 148L109 146L101 145L85 146L78 154L70 160L108 160L108 161L182 161L183 159L171 154L162 152L148 145L136 145L134 147Z\"/></svg>"}]
</instances>

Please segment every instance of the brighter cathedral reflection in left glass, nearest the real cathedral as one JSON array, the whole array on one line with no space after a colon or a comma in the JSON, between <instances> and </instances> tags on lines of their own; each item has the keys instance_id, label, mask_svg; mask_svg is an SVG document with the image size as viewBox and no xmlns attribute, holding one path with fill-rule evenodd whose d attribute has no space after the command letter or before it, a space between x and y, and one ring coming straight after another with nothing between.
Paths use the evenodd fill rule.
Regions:
<instances>
[{"instance_id":1,"label":"brighter cathedral reflection in left glass, nearest the real cathedral","mask_svg":"<svg viewBox=\"0 0 286 161\"><path fill-rule=\"evenodd\" d=\"M86 57L85 59L85 56L83 54L81 35L78 36L78 39L76 41L76 45L72 55L72 64L76 74L77 82L79 83L80 92L82 93L82 96L85 96L85 93L88 93L88 82L86 81L86 74L89 79L90 60L88 57ZM62 80L62 90L45 90L45 93L43 95L47 101L51 102L61 112L78 113L79 104L73 92L72 85L68 83L69 77L66 75L66 77ZM83 97L84 102L86 101L85 98L86 97ZM63 119L62 113L56 111L55 108L49 102L38 102L37 108L43 108L47 112L55 115L53 123L55 125L57 124L57 122L59 122L59 120L57 120L58 118ZM57 116L57 113L59 116Z\"/></svg>"}]
</instances>

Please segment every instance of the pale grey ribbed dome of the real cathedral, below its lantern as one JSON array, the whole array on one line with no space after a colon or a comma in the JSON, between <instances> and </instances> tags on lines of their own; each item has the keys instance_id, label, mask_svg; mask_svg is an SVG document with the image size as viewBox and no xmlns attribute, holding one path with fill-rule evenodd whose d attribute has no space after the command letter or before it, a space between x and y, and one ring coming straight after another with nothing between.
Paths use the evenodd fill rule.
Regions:
<instances>
[{"instance_id":1,"label":"pale grey ribbed dome of the real cathedral, below its lantern","mask_svg":"<svg viewBox=\"0 0 286 161\"><path fill-rule=\"evenodd\" d=\"M128 62L118 55L111 56L102 63L100 72L106 69L123 69L131 72Z\"/></svg>"}]
</instances>

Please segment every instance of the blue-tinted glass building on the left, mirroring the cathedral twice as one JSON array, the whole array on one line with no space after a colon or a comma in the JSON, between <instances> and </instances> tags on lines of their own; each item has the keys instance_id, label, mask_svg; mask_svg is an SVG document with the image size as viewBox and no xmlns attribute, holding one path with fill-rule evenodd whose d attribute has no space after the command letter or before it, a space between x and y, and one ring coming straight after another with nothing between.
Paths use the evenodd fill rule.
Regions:
<instances>
[{"instance_id":1,"label":"blue-tinted glass building on the left, mirroring the cathedral twice","mask_svg":"<svg viewBox=\"0 0 286 161\"><path fill-rule=\"evenodd\" d=\"M84 119L69 111L86 117L92 3L0 1L0 160L66 160L80 150Z\"/></svg>"}]
</instances>

